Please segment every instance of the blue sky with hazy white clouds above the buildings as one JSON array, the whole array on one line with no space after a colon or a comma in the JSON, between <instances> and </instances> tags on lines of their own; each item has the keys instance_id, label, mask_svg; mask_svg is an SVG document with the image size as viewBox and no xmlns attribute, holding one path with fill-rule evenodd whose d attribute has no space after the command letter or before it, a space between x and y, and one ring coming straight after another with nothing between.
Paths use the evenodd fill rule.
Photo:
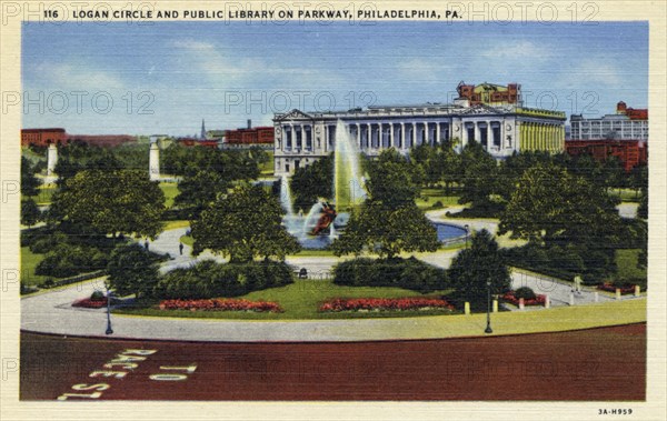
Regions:
<instances>
[{"instance_id":1,"label":"blue sky with hazy white clouds above the buildings","mask_svg":"<svg viewBox=\"0 0 667 421\"><path fill-rule=\"evenodd\" d=\"M518 82L526 107L568 117L648 103L646 22L70 22L24 23L22 37L22 126L79 134L195 134L201 119L232 129L292 108L448 102L461 80Z\"/></svg>"}]
</instances>

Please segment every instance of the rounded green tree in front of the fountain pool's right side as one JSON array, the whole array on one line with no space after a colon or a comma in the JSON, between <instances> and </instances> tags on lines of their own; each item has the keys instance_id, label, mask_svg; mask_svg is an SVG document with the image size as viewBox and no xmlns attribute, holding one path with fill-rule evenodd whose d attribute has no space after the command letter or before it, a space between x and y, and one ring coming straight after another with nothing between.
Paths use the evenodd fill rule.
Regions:
<instances>
[{"instance_id":1,"label":"rounded green tree in front of the fountain pool's right side","mask_svg":"<svg viewBox=\"0 0 667 421\"><path fill-rule=\"evenodd\" d=\"M436 251L439 245L436 228L414 202L389 207L370 199L351 212L331 249L336 255L368 250L391 259L401 252Z\"/></svg>"}]
</instances>

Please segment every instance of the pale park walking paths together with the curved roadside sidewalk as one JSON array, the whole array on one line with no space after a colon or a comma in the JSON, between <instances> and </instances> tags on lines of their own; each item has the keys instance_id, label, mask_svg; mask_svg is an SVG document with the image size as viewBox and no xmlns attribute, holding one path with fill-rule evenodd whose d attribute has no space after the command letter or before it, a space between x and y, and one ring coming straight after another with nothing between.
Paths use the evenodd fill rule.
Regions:
<instances>
[{"instance_id":1,"label":"pale park walking paths together with the curved roadside sidewalk","mask_svg":"<svg viewBox=\"0 0 667 421\"><path fill-rule=\"evenodd\" d=\"M429 218L437 220L444 213L445 210L429 212ZM497 230L497 223L494 221L456 220L452 222L461 225L467 223L472 230L487 229L490 232ZM180 237L186 231L187 228L165 231L149 243L151 251L169 253L172 258L162 264L162 271L188 267L202 259L225 261L221 257L209 252L197 258L191 257L191 248L187 244L183 244L181 254ZM447 268L457 252L458 250L444 250L419 258ZM339 259L290 257L287 261L296 269L306 268L312 282L317 282L318 275L328 275ZM595 302L595 292L586 290L581 294L575 294L574 305L570 305L570 284L539 274L514 271L512 288L519 287L530 287L537 293L549 294L552 308L494 313L494 334L564 331L646 321L644 297L625 297L615 300L600 293L599 302ZM104 334L106 309L71 307L73 301L90 297L94 290L104 290L103 279L84 281L22 298L21 329L64 335L107 337ZM439 339L482 335L486 327L486 314L302 321L178 319L126 314L112 314L111 318L112 338L230 342Z\"/></svg>"}]
</instances>

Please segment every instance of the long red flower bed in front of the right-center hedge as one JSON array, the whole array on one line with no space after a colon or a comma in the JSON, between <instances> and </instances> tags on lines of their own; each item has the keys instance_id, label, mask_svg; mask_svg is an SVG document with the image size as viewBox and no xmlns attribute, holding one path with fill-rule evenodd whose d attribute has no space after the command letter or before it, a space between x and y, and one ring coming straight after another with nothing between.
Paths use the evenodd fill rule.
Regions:
<instances>
[{"instance_id":1,"label":"long red flower bed in front of the right-center hedge","mask_svg":"<svg viewBox=\"0 0 667 421\"><path fill-rule=\"evenodd\" d=\"M387 311L387 310L447 310L452 311L454 305L445 300L436 298L357 298L342 299L337 298L325 301L320 304L318 311L337 312L337 311Z\"/></svg>"}]
</instances>

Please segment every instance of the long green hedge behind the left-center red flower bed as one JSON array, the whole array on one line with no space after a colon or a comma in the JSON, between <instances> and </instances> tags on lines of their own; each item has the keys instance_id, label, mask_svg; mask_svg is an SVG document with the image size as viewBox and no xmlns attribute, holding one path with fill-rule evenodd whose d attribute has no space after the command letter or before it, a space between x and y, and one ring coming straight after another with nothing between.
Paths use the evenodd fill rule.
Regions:
<instances>
[{"instance_id":1,"label":"long green hedge behind the left-center red flower bed","mask_svg":"<svg viewBox=\"0 0 667 421\"><path fill-rule=\"evenodd\" d=\"M191 268L166 273L158 283L156 295L162 299L238 297L291 282L292 270L285 262L217 263L205 260Z\"/></svg>"}]
</instances>

